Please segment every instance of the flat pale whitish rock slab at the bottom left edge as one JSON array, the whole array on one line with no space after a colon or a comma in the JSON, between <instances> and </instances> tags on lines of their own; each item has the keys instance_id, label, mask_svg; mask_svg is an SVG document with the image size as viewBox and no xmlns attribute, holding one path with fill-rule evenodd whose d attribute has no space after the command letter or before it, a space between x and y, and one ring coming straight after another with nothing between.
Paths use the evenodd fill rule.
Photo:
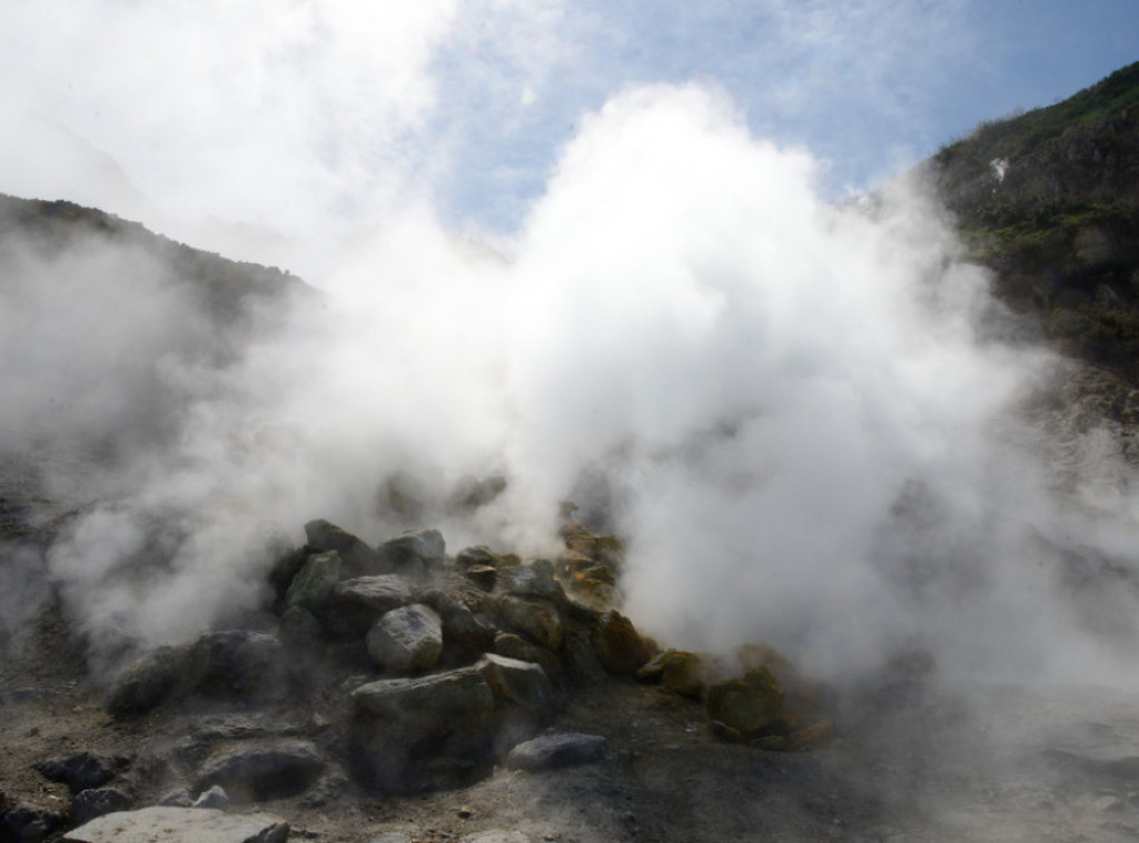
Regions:
<instances>
[{"instance_id":1,"label":"flat pale whitish rock slab at the bottom left edge","mask_svg":"<svg viewBox=\"0 0 1139 843\"><path fill-rule=\"evenodd\" d=\"M270 813L207 808L144 808L93 819L65 843L285 843L288 822Z\"/></svg>"}]
</instances>

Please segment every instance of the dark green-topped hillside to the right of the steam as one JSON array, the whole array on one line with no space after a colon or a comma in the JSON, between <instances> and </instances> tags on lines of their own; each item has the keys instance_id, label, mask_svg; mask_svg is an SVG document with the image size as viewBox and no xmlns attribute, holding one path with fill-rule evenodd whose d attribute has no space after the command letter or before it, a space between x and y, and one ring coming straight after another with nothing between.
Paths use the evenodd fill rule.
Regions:
<instances>
[{"instance_id":1,"label":"dark green-topped hillside to the right of the steam","mask_svg":"<svg viewBox=\"0 0 1139 843\"><path fill-rule=\"evenodd\" d=\"M983 123L921 169L1006 303L1139 384L1139 63Z\"/></svg>"}]
</instances>

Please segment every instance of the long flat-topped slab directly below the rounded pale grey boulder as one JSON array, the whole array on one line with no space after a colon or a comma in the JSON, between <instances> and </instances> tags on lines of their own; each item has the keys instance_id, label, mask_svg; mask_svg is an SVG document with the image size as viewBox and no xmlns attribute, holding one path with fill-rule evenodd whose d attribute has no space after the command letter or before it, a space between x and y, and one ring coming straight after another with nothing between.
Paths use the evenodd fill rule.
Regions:
<instances>
[{"instance_id":1,"label":"long flat-topped slab directly below the rounded pale grey boulder","mask_svg":"<svg viewBox=\"0 0 1139 843\"><path fill-rule=\"evenodd\" d=\"M353 691L352 701L359 712L392 720L489 712L495 704L491 686L475 666L369 682Z\"/></svg>"}]
</instances>

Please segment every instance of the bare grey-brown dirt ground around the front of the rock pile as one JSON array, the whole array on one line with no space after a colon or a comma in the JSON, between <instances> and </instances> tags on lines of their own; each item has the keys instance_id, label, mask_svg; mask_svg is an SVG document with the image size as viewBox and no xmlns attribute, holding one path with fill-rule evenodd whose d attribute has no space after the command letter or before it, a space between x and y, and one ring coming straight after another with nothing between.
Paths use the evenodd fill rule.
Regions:
<instances>
[{"instance_id":1,"label":"bare grey-brown dirt ground around the front of the rock pile","mask_svg":"<svg viewBox=\"0 0 1139 843\"><path fill-rule=\"evenodd\" d=\"M81 750L122 756L116 784L142 804L156 799L140 747L192 730L185 715L109 718L51 613L23 646L13 644L0 671L8 804L66 810L66 788L32 766ZM303 732L308 717L286 720ZM605 736L607 761L538 774L497 769L473 786L417 796L344 785L319 807L302 794L233 810L278 813L293 840L328 843L367 843L385 832L444 843L489 829L522 832L533 843L1139 837L1134 695L988 687L950 696L932 684L882 684L839 695L835 719L829 745L770 753L716 739L695 703L613 680L575 691L551 726Z\"/></svg>"}]
</instances>

